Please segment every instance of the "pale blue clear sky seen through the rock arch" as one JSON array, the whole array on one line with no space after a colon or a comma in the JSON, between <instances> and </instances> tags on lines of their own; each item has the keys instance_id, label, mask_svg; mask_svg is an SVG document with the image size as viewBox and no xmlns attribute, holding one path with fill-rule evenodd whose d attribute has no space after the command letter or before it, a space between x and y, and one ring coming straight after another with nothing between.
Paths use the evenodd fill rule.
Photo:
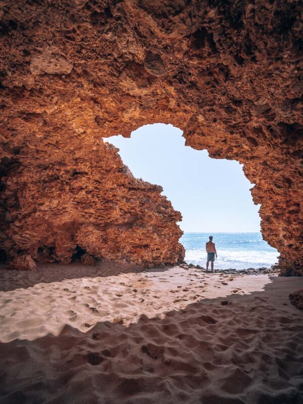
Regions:
<instances>
[{"instance_id":1,"label":"pale blue clear sky seen through the rock arch","mask_svg":"<svg viewBox=\"0 0 303 404\"><path fill-rule=\"evenodd\" d=\"M104 138L133 175L163 187L163 194L182 214L184 232L259 232L259 205L253 186L236 161L211 159L207 150L185 146L182 131L172 125L145 125L130 138Z\"/></svg>"}]
</instances>

